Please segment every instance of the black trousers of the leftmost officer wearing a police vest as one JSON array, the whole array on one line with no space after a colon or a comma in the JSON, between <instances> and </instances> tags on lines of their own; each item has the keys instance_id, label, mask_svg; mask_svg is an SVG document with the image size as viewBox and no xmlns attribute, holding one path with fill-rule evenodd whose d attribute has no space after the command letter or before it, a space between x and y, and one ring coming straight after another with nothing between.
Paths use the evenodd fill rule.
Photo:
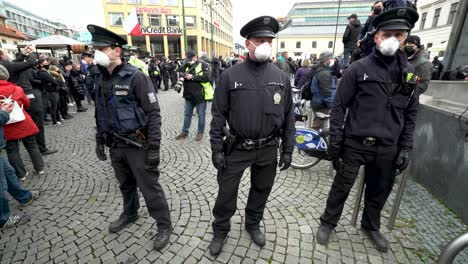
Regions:
<instances>
[{"instance_id":1,"label":"black trousers of the leftmost officer wearing a police vest","mask_svg":"<svg viewBox=\"0 0 468 264\"><path fill-rule=\"evenodd\" d=\"M159 184L159 170L150 171L144 166L146 151L117 143L110 148L110 158L123 196L123 213L138 213L138 187L149 214L157 222L158 229L171 227L169 206L164 190Z\"/></svg>"}]
</instances>

